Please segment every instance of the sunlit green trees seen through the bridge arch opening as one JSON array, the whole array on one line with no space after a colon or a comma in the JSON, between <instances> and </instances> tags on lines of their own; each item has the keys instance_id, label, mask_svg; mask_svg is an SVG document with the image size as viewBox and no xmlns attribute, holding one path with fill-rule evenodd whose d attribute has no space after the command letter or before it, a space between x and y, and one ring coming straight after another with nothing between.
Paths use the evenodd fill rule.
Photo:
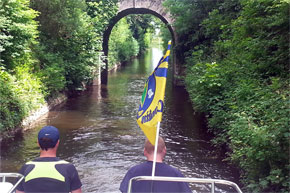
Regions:
<instances>
[{"instance_id":1,"label":"sunlit green trees seen through the bridge arch opening","mask_svg":"<svg viewBox=\"0 0 290 193\"><path fill-rule=\"evenodd\" d=\"M128 15L112 29L109 41L109 68L130 60L149 48L160 20L152 15Z\"/></svg>"}]
</instances>

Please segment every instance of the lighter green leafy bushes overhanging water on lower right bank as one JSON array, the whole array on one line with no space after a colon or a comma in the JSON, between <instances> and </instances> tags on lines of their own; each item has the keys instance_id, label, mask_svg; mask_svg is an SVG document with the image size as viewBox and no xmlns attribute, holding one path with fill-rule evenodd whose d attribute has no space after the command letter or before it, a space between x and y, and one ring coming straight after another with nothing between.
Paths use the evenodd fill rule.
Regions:
<instances>
[{"instance_id":1,"label":"lighter green leafy bushes overhanging water on lower right bank","mask_svg":"<svg viewBox=\"0 0 290 193\"><path fill-rule=\"evenodd\" d=\"M210 112L213 142L229 145L229 160L243 169L251 192L287 192L288 81L272 78L269 84L230 68L199 63L188 71L186 86L194 108Z\"/></svg>"}]
</instances>

